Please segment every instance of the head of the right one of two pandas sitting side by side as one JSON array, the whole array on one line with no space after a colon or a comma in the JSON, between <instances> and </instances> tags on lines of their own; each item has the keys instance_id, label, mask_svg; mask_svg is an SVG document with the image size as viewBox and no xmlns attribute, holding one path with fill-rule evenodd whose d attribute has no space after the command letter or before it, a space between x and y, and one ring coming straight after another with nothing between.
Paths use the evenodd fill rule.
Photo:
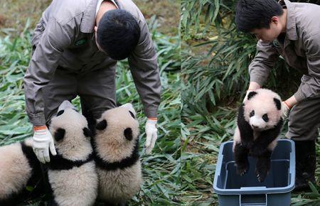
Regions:
<instances>
[{"instance_id":1,"label":"head of the right one of two pandas sitting side by side","mask_svg":"<svg viewBox=\"0 0 320 206\"><path fill-rule=\"evenodd\" d=\"M129 157L139 140L139 122L132 104L107 110L95 126L95 148L110 163Z\"/></svg>"}]
</instances>

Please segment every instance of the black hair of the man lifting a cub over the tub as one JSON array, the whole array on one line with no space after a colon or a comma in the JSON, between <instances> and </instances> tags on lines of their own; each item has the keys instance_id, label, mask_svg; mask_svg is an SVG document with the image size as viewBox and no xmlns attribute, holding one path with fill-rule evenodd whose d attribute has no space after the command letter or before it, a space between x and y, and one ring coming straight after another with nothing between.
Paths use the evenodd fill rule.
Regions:
<instances>
[{"instance_id":1,"label":"black hair of the man lifting a cub over the tub","mask_svg":"<svg viewBox=\"0 0 320 206\"><path fill-rule=\"evenodd\" d=\"M236 8L235 23L238 30L243 32L270 28L272 16L281 16L282 13L282 6L275 0L240 0Z\"/></svg>"}]
</instances>

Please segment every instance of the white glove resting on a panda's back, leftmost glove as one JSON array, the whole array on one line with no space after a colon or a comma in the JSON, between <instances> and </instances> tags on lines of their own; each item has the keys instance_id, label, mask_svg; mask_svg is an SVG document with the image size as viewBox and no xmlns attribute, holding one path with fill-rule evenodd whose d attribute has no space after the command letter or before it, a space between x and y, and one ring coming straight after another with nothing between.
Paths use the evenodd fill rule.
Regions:
<instances>
[{"instance_id":1,"label":"white glove resting on a panda's back, leftmost glove","mask_svg":"<svg viewBox=\"0 0 320 206\"><path fill-rule=\"evenodd\" d=\"M46 126L41 126L41 129L35 127L33 134L33 152L41 163L50 162L50 152L53 156L57 154L55 151L55 145L50 131Z\"/></svg>"}]
</instances>

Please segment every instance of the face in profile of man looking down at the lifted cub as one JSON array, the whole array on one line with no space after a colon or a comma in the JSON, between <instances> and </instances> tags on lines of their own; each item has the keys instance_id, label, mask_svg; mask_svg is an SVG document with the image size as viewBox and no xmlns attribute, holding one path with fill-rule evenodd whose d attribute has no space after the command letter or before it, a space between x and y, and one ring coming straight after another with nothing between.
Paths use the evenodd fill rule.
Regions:
<instances>
[{"instance_id":1,"label":"face in profile of man looking down at the lifted cub","mask_svg":"<svg viewBox=\"0 0 320 206\"><path fill-rule=\"evenodd\" d=\"M282 31L282 26L279 23L279 18L277 16L272 17L270 22L270 28L255 28L252 33L256 36L258 40L262 41L272 41L275 40Z\"/></svg>"}]
</instances>

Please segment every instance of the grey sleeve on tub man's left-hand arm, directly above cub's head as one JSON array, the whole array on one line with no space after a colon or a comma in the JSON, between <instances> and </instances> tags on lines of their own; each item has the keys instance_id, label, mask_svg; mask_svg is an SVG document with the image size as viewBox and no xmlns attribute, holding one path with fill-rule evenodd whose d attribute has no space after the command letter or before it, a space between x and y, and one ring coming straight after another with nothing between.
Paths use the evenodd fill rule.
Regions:
<instances>
[{"instance_id":1,"label":"grey sleeve on tub man's left-hand arm, directly above cub's head","mask_svg":"<svg viewBox=\"0 0 320 206\"><path fill-rule=\"evenodd\" d=\"M278 57L279 53L276 48L272 47L272 43L259 40L257 53L249 65L250 82L257 82L260 86L264 85Z\"/></svg>"}]
</instances>

